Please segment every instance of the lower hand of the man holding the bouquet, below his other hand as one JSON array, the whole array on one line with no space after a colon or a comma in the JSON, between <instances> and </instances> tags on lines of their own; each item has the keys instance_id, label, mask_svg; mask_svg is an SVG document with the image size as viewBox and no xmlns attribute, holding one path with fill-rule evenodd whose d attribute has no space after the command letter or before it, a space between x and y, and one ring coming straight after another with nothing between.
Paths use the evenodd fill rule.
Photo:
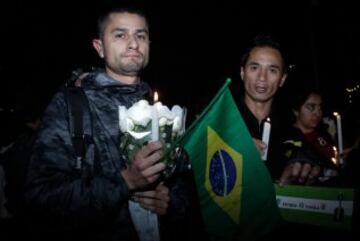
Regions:
<instances>
[{"instance_id":1,"label":"lower hand of the man holding the bouquet, below his other hand","mask_svg":"<svg viewBox=\"0 0 360 241\"><path fill-rule=\"evenodd\" d=\"M136 192L134 197L143 208L158 215L166 214L170 202L169 189L163 184L159 184L155 190Z\"/></svg>"}]
</instances>

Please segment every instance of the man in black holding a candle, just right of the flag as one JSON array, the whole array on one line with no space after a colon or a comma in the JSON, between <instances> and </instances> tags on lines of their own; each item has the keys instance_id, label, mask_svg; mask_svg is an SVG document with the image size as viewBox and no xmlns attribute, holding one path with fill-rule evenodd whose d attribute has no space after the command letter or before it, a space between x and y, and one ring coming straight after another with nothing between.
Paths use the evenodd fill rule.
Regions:
<instances>
[{"instance_id":1,"label":"man in black holding a candle, just right of the flag","mask_svg":"<svg viewBox=\"0 0 360 241\"><path fill-rule=\"evenodd\" d=\"M284 121L274 99L285 83L287 69L280 44L271 35L256 36L241 58L240 76L245 93L237 104L259 152L263 153L268 148L265 164L273 179L279 180L280 184L307 183L309 178L314 179L319 175L316 166L309 168L300 162L287 165L279 159ZM268 146L261 141L267 118L271 121Z\"/></svg>"}]
</instances>

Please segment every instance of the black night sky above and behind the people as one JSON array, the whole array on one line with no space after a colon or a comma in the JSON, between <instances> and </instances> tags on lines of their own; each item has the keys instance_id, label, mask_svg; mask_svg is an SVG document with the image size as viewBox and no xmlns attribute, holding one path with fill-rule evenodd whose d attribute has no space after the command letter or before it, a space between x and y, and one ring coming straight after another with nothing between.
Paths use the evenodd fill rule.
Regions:
<instances>
[{"instance_id":1,"label":"black night sky above and behind the people","mask_svg":"<svg viewBox=\"0 0 360 241\"><path fill-rule=\"evenodd\" d=\"M2 121L11 111L16 116L41 110L71 70L101 65L91 39L96 13L109 2L123 1L0 3ZM163 103L187 106L190 120L227 77L239 92L241 52L255 34L271 32L295 66L280 92L284 100L301 85L316 86L324 91L329 113L347 113L351 126L359 126L355 1L131 2L144 6L150 18L151 58L144 79ZM346 88L355 90L351 97Z\"/></svg>"}]
</instances>

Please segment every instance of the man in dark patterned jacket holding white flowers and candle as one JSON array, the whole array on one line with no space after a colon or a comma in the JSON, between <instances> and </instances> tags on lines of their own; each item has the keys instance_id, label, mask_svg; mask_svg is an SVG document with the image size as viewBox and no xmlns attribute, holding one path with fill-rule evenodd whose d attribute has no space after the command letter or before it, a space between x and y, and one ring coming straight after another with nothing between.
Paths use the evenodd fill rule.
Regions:
<instances>
[{"instance_id":1,"label":"man in dark patterned jacket holding white flowers and candle","mask_svg":"<svg viewBox=\"0 0 360 241\"><path fill-rule=\"evenodd\" d=\"M165 168L159 162L159 141L143 146L132 165L119 149L118 106L130 107L151 92L139 76L149 61L149 43L148 23L138 10L113 9L99 18L93 47L105 70L91 72L82 81L90 108L90 117L84 118L91 119L93 133L80 168L64 92L48 105L25 191L30 221L40 223L32 230L38 229L40 238L138 240L128 209L132 195L159 216L162 240L186 239L189 234L189 173L175 171L171 180L159 182ZM153 188L146 189L149 186Z\"/></svg>"}]
</instances>

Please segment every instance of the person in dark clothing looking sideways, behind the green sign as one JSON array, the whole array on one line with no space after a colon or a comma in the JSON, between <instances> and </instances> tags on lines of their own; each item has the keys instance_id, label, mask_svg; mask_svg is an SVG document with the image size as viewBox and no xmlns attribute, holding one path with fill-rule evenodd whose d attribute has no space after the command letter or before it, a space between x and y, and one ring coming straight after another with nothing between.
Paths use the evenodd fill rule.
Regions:
<instances>
[{"instance_id":1,"label":"person in dark clothing looking sideways, behind the green sign","mask_svg":"<svg viewBox=\"0 0 360 241\"><path fill-rule=\"evenodd\" d=\"M339 175L339 158L331 134L323 125L322 108L322 96L318 91L311 88L297 91L292 104L295 121L285 132L283 157L292 165L303 163L308 170L314 167L310 175L322 173L318 179L300 179L299 183L324 184Z\"/></svg>"}]
</instances>

